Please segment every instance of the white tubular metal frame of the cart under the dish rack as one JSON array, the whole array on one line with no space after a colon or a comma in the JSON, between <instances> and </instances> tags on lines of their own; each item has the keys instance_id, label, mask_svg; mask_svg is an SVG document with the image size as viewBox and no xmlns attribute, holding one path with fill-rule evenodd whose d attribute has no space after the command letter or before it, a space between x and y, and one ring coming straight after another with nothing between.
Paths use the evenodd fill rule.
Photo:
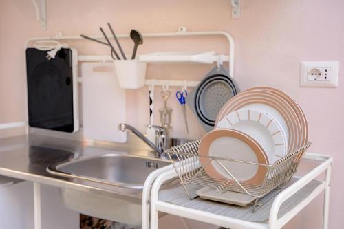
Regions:
<instances>
[{"instance_id":1,"label":"white tubular metal frame of the cart under the dish rack","mask_svg":"<svg viewBox=\"0 0 344 229\"><path fill-rule=\"evenodd\" d=\"M327 155L305 153L303 160L313 160L319 162L315 168L312 168L307 174L288 186L275 197L272 207L270 209L270 217L268 221L263 222L252 222L243 221L235 218L225 217L221 215L215 215L209 212L201 210L194 210L191 208L185 208L170 204L164 201L159 201L158 195L159 190L164 182L169 179L177 177L175 170L172 166L166 166L161 168L154 173L151 173L147 179L147 186L144 188L144 194L148 196L150 190L150 198L144 196L142 209L143 229L157 229L158 228L158 212L165 212L171 215L184 217L187 219L193 219L196 221L202 221L204 223L211 223L216 226L222 226L224 228L231 229L259 229L259 228L282 228L290 219L297 215L305 206L307 206L315 197L317 197L322 191L324 191L324 203L323 203L323 228L327 229L328 225L328 211L329 211L329 199L330 199L330 175L332 166L332 157ZM297 206L294 206L292 210L287 212L285 215L278 218L279 208L284 201L287 201L294 193L303 188L306 184L316 179L319 175L325 173L325 179L321 185L315 188L312 193L303 199ZM155 181L154 181L155 180ZM153 184L153 186L151 186ZM150 188L151 186L151 188ZM149 204L150 202L150 204ZM150 211L148 210L150 205ZM149 220L150 219L150 220ZM149 223L150 221L150 223Z\"/></svg>"}]
</instances>

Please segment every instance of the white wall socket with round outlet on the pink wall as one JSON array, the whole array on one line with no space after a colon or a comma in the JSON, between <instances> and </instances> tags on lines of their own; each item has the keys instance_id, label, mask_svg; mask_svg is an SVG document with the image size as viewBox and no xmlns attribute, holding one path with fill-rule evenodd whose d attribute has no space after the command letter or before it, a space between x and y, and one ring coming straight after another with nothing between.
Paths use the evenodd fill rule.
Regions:
<instances>
[{"instance_id":1,"label":"white wall socket with round outlet on the pink wall","mask_svg":"<svg viewBox=\"0 0 344 229\"><path fill-rule=\"evenodd\" d=\"M338 61L301 62L301 87L338 87Z\"/></svg>"}]
</instances>

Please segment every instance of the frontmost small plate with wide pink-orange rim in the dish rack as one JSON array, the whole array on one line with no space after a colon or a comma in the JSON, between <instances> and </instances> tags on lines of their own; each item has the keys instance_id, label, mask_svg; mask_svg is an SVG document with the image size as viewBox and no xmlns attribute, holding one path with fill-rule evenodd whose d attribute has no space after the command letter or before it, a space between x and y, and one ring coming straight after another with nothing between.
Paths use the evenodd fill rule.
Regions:
<instances>
[{"instance_id":1,"label":"frontmost small plate with wide pink-orange rim in the dish rack","mask_svg":"<svg viewBox=\"0 0 344 229\"><path fill-rule=\"evenodd\" d=\"M264 165L268 164L268 156L255 139L241 131L215 129L207 133L200 142L198 154L204 171L213 178L233 182L235 177L239 182L259 185L266 175L267 168ZM219 159L210 161L209 157ZM233 162L223 158L260 165Z\"/></svg>"}]
</instances>

